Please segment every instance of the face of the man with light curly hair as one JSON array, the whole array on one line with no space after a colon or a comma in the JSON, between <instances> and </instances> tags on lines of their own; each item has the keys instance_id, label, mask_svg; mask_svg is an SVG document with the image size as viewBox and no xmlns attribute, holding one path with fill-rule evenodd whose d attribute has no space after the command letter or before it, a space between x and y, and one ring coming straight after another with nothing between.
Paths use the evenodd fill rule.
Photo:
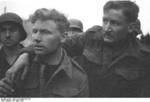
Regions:
<instances>
[{"instance_id":1,"label":"face of the man with light curly hair","mask_svg":"<svg viewBox=\"0 0 150 102\"><path fill-rule=\"evenodd\" d=\"M33 25L32 32L36 54L52 54L60 47L61 33L53 20L37 20Z\"/></svg>"}]
</instances>

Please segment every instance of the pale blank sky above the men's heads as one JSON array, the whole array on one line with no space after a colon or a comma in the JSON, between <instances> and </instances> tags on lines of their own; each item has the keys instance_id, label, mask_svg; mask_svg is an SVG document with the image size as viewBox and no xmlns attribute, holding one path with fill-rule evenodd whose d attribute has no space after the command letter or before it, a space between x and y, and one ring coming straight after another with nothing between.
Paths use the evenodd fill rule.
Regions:
<instances>
[{"instance_id":1,"label":"pale blank sky above the men's heads","mask_svg":"<svg viewBox=\"0 0 150 102\"><path fill-rule=\"evenodd\" d=\"M94 25L102 25L103 6L108 0L0 0L0 14L15 12L27 19L39 8L55 8L69 19L76 18L83 22L84 31ZM133 1L133 0L132 0ZM150 32L150 0L134 0L140 7L139 19L143 33Z\"/></svg>"}]
</instances>

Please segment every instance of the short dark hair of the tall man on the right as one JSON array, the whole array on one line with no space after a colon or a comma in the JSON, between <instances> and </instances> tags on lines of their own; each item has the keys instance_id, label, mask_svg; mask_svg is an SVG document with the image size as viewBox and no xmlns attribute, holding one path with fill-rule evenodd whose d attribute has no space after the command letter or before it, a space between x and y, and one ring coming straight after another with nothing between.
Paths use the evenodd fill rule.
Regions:
<instances>
[{"instance_id":1,"label":"short dark hair of the tall man on the right","mask_svg":"<svg viewBox=\"0 0 150 102\"><path fill-rule=\"evenodd\" d=\"M104 5L104 12L110 10L110 9L116 9L116 10L123 10L123 14L126 17L126 20L128 22L135 22L138 18L139 13L139 7L137 4L135 4L132 1L108 1Z\"/></svg>"}]
</instances>

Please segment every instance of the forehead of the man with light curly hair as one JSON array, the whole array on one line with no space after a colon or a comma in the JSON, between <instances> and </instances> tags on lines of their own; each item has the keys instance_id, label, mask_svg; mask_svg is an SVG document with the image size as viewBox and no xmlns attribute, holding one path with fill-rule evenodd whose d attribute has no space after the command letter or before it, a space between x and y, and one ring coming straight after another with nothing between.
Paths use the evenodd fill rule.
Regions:
<instances>
[{"instance_id":1,"label":"forehead of the man with light curly hair","mask_svg":"<svg viewBox=\"0 0 150 102\"><path fill-rule=\"evenodd\" d=\"M33 28L52 30L57 28L57 24L53 20L37 20L33 24Z\"/></svg>"}]
</instances>

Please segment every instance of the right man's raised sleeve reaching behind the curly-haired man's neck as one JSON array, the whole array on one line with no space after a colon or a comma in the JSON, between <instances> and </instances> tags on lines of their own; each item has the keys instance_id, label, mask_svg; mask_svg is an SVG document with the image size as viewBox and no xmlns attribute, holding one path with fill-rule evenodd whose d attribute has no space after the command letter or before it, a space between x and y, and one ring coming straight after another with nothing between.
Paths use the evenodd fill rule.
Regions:
<instances>
[{"instance_id":1,"label":"right man's raised sleeve reaching behind the curly-haired man's neck","mask_svg":"<svg viewBox=\"0 0 150 102\"><path fill-rule=\"evenodd\" d=\"M84 33L76 34L66 38L63 42L63 47L71 57L79 56L83 53L85 46L88 46L91 41L101 40L102 33L102 27L95 25Z\"/></svg>"}]
</instances>

